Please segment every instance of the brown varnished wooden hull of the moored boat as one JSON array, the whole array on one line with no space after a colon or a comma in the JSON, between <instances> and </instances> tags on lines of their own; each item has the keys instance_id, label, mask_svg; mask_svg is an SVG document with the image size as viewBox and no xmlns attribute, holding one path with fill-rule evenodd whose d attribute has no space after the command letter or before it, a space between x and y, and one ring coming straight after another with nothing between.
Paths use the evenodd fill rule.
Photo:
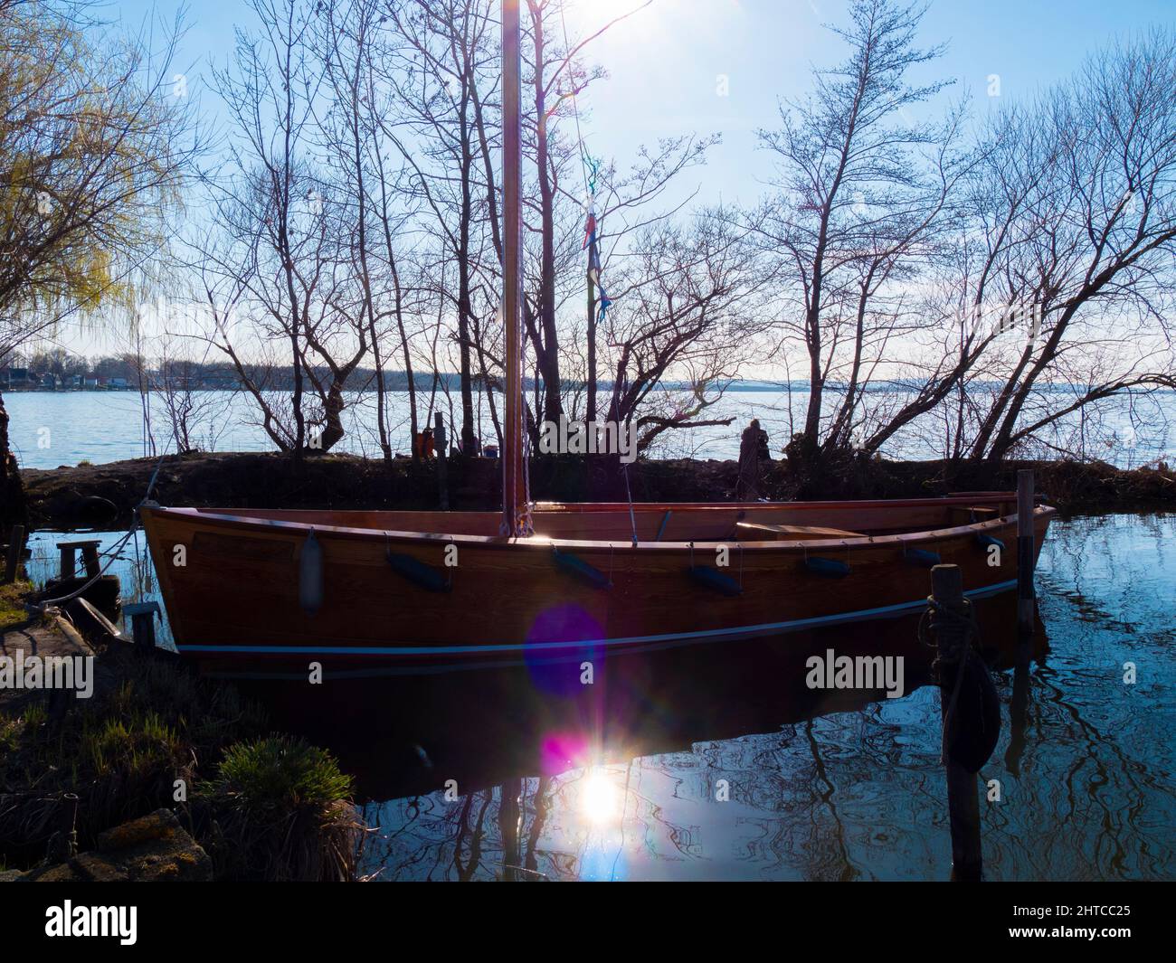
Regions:
<instances>
[{"instance_id":1,"label":"brown varnished wooden hull of the moored boat","mask_svg":"<svg viewBox=\"0 0 1176 963\"><path fill-rule=\"evenodd\" d=\"M494 534L496 513L145 508L142 520L183 656L305 675L310 662L579 662L901 615L926 604L936 560L990 595L1016 586L1014 503L640 504L636 544L624 504L541 507L537 534L519 540ZM1036 509L1038 549L1053 514ZM312 529L323 559L313 614L300 604Z\"/></svg>"}]
</instances>

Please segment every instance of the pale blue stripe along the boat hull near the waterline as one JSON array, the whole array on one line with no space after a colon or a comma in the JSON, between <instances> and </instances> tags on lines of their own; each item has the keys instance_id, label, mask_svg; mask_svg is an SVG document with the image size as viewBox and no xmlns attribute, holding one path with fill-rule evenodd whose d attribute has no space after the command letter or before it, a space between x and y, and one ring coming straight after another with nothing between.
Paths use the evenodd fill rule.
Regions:
<instances>
[{"instance_id":1,"label":"pale blue stripe along the boat hull near the waterline","mask_svg":"<svg viewBox=\"0 0 1176 963\"><path fill-rule=\"evenodd\" d=\"M996 595L1016 588L1016 580L997 582L980 589L965 591L969 598ZM730 629L707 629L704 631L669 633L664 635L633 635L621 638L584 638L574 642L527 642L482 646L176 646L181 653L216 653L219 655L476 655L479 653L540 653L557 649L584 649L593 646L641 646L659 642L707 642L721 638L750 638L776 635L821 626L840 626L867 618L887 618L917 611L927 604L926 598L898 602L875 609L837 615L820 615L810 618L794 618L788 622L764 622L759 626L737 626Z\"/></svg>"}]
</instances>

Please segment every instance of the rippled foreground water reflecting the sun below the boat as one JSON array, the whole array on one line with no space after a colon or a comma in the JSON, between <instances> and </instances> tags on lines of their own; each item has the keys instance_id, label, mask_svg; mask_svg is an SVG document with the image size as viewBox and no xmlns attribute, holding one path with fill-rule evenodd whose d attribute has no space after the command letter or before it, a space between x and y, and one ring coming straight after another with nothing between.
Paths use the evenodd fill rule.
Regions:
<instances>
[{"instance_id":1,"label":"rippled foreground water reflecting the sun below the boat","mask_svg":"<svg viewBox=\"0 0 1176 963\"><path fill-rule=\"evenodd\" d=\"M35 576L59 537L34 536ZM1028 673L1013 664L1011 598L981 610L1002 703L981 770L1000 784L981 803L988 878L1176 877L1174 546L1176 515L1055 522ZM138 550L115 570L151 597ZM937 689L866 702L802 683L804 655L834 647L904 654L918 684L915 630L614 657L575 696L524 669L255 694L358 777L376 878L942 880Z\"/></svg>"}]
</instances>

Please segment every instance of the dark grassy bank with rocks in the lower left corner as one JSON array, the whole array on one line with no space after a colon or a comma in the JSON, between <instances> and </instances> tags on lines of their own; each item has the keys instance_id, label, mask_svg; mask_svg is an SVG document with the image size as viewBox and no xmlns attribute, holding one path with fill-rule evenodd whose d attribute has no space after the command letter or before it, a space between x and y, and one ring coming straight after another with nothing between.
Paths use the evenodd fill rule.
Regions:
<instances>
[{"instance_id":1,"label":"dark grassy bank with rocks in the lower left corner","mask_svg":"<svg viewBox=\"0 0 1176 963\"><path fill-rule=\"evenodd\" d=\"M234 687L13 604L0 656L0 881L355 878L350 776Z\"/></svg>"}]
</instances>

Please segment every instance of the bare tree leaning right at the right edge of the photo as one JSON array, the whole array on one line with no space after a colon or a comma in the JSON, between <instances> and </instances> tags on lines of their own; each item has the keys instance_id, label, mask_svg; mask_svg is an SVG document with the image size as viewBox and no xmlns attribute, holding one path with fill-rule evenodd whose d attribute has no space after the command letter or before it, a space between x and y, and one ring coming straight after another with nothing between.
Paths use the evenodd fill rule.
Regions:
<instances>
[{"instance_id":1,"label":"bare tree leaning right at the right edge of the photo","mask_svg":"<svg viewBox=\"0 0 1176 963\"><path fill-rule=\"evenodd\" d=\"M1043 128L1016 230L1000 252L1003 294L1036 306L1023 347L982 419L974 456L1002 459L1085 404L1135 389L1174 388L1170 312L1176 253L1176 34L1154 31L1090 58L1074 85L1037 106ZM997 127L991 163L1008 167L1017 126ZM1035 336L1034 336L1035 335ZM1112 357L1114 365L1103 365ZM1063 404L1050 382L1085 389Z\"/></svg>"}]
</instances>

